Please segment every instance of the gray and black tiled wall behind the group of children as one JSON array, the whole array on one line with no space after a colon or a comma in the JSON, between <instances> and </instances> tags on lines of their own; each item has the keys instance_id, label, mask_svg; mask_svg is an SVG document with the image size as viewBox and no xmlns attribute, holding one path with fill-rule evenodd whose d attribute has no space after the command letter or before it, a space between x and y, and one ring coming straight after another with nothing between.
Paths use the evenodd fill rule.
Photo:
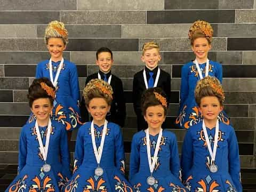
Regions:
<instances>
[{"instance_id":1,"label":"gray and black tiled wall behind the group of children","mask_svg":"<svg viewBox=\"0 0 256 192\"><path fill-rule=\"evenodd\" d=\"M212 23L211 60L223 65L225 110L236 129L242 167L256 168L256 1L254 0L0 0L0 164L17 164L20 127L26 122L26 99L38 61L49 58L44 29L61 20L69 31L66 59L76 63L81 89L97 71L95 51L114 51L113 73L122 78L127 106L125 150L135 132L131 104L133 75L143 68L144 42L161 46L160 65L172 77L172 100L166 121L177 115L180 72L194 58L187 38L191 23ZM172 127L172 126L171 126ZM184 130L177 133L179 147ZM75 134L73 144L74 151Z\"/></svg>"}]
</instances>

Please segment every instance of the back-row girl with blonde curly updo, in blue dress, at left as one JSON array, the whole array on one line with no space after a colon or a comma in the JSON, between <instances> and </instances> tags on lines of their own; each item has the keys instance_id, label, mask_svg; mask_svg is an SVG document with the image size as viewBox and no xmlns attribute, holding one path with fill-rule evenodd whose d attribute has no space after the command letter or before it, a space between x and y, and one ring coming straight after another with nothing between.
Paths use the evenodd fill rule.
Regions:
<instances>
[{"instance_id":1,"label":"back-row girl with blonde curly updo, in blue dress, at left","mask_svg":"<svg viewBox=\"0 0 256 192\"><path fill-rule=\"evenodd\" d=\"M78 108L80 95L76 65L63 59L63 51L68 43L68 31L62 22L49 23L45 29L45 42L51 58L38 63L36 78L47 77L54 85L56 97L51 118L65 125L70 140L71 131L82 123ZM34 119L35 116L30 116L28 122Z\"/></svg>"}]
</instances>

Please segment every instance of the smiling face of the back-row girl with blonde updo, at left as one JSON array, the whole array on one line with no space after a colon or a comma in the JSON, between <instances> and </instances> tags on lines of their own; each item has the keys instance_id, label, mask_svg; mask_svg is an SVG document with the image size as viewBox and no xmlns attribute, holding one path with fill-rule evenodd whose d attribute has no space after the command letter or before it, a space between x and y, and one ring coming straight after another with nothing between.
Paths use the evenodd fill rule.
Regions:
<instances>
[{"instance_id":1,"label":"smiling face of the back-row girl with blonde updo, at left","mask_svg":"<svg viewBox=\"0 0 256 192\"><path fill-rule=\"evenodd\" d=\"M47 49L51 54L52 61L56 62L62 59L66 45L64 45L62 38L49 38L47 42Z\"/></svg>"}]
</instances>

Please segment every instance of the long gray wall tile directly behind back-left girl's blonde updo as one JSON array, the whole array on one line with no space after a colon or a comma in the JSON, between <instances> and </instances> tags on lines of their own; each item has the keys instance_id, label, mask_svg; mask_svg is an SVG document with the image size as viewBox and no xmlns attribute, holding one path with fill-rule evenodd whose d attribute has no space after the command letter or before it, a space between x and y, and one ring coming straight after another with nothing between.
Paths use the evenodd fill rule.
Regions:
<instances>
[{"instance_id":1,"label":"long gray wall tile directly behind back-left girl's blonde updo","mask_svg":"<svg viewBox=\"0 0 256 192\"><path fill-rule=\"evenodd\" d=\"M45 25L37 26L38 37L44 37ZM69 38L121 38L122 26L118 25L65 25Z\"/></svg>"}]
</instances>

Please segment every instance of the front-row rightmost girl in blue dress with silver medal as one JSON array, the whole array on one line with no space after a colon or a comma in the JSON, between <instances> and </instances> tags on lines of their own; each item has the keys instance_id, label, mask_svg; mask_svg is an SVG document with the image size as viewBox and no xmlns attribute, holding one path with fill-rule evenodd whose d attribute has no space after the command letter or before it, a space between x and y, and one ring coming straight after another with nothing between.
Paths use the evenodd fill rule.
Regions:
<instances>
[{"instance_id":1,"label":"front-row rightmost girl in blue dress with silver medal","mask_svg":"<svg viewBox=\"0 0 256 192\"><path fill-rule=\"evenodd\" d=\"M197 82L195 100L203 121L187 130L182 149L182 178L189 191L242 192L236 134L219 121L225 97L215 77Z\"/></svg>"}]
</instances>

